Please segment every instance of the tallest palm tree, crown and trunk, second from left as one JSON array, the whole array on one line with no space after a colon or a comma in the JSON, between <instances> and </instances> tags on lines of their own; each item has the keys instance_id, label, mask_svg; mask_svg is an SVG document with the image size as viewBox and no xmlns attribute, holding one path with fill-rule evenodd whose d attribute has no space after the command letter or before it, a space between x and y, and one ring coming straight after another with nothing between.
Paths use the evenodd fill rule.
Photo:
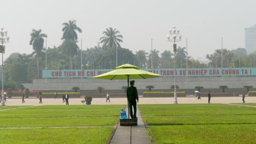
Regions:
<instances>
[{"instance_id":1,"label":"tallest palm tree, crown and trunk, second from left","mask_svg":"<svg viewBox=\"0 0 256 144\"><path fill-rule=\"evenodd\" d=\"M76 21L69 20L68 22L62 23L64 26L62 28L62 38L64 41L62 43L63 48L65 49L65 53L69 55L70 59L70 67L72 69L72 58L74 57L75 53L78 51L78 46L77 46L77 32L82 33L82 29L77 27Z\"/></svg>"}]
</instances>

